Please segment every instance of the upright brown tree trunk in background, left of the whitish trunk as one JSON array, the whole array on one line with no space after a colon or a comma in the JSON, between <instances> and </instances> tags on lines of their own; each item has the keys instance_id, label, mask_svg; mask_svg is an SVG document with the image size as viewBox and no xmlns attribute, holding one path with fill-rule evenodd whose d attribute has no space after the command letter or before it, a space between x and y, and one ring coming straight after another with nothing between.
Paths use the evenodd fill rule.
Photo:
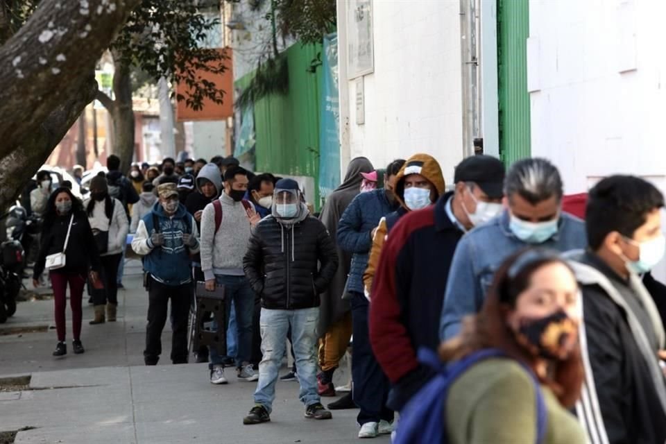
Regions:
<instances>
[{"instance_id":1,"label":"upright brown tree trunk in background, left of the whitish trunk","mask_svg":"<svg viewBox=\"0 0 666 444\"><path fill-rule=\"evenodd\" d=\"M132 108L132 79L130 67L119 61L114 54L115 73L113 75L113 94L116 96L113 117L114 140L113 153L120 157L121 171L128 173L134 158L134 110Z\"/></svg>"}]
</instances>

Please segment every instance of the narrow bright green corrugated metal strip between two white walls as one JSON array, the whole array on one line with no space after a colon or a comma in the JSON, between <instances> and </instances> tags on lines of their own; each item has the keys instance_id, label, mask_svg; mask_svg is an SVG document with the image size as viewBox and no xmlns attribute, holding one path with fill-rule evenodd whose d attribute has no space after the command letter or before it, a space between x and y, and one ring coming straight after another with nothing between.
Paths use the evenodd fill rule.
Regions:
<instances>
[{"instance_id":1,"label":"narrow bright green corrugated metal strip between two white walls","mask_svg":"<svg viewBox=\"0 0 666 444\"><path fill-rule=\"evenodd\" d=\"M507 166L530 156L528 36L529 0L497 0L499 153Z\"/></svg>"}]
</instances>

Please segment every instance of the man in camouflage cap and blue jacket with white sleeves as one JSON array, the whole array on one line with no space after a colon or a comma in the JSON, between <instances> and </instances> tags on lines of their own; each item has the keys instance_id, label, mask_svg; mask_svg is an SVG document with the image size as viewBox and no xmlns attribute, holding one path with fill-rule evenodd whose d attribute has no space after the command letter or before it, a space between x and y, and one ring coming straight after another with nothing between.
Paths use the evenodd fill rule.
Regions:
<instances>
[{"instance_id":1,"label":"man in camouflage cap and blue jacket with white sleeves","mask_svg":"<svg viewBox=\"0 0 666 444\"><path fill-rule=\"evenodd\" d=\"M157 187L159 202L139 222L132 249L144 256L144 282L148 290L146 366L154 366L162 352L162 330L171 299L171 361L187 364L187 318L192 288L191 255L198 253L194 217L178 202L175 183Z\"/></svg>"}]
</instances>

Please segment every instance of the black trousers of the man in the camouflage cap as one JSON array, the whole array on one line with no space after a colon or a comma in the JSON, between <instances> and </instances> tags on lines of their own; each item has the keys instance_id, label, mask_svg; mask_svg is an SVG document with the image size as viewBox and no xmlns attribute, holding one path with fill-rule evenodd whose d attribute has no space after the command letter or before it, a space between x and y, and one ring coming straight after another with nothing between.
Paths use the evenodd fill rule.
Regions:
<instances>
[{"instance_id":1,"label":"black trousers of the man in the camouflage cap","mask_svg":"<svg viewBox=\"0 0 666 444\"><path fill-rule=\"evenodd\" d=\"M164 285L151 279L148 290L148 326L146 327L146 366L154 366L162 354L162 330L167 323L167 309L171 299L171 361L187 363L187 319L192 299L192 284Z\"/></svg>"}]
</instances>

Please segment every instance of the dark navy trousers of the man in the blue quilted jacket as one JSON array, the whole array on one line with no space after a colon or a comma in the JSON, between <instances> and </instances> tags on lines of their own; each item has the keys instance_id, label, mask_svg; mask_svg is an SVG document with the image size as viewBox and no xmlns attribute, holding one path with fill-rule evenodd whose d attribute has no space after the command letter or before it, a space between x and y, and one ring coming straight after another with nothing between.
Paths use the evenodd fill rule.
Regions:
<instances>
[{"instance_id":1,"label":"dark navy trousers of the man in the blue quilted jacket","mask_svg":"<svg viewBox=\"0 0 666 444\"><path fill-rule=\"evenodd\" d=\"M393 421L393 410L386 407L391 382L384 375L370 345L368 330L368 300L361 293L352 293L352 393L354 402L361 409L357 416L359 425L379 420Z\"/></svg>"}]
</instances>

